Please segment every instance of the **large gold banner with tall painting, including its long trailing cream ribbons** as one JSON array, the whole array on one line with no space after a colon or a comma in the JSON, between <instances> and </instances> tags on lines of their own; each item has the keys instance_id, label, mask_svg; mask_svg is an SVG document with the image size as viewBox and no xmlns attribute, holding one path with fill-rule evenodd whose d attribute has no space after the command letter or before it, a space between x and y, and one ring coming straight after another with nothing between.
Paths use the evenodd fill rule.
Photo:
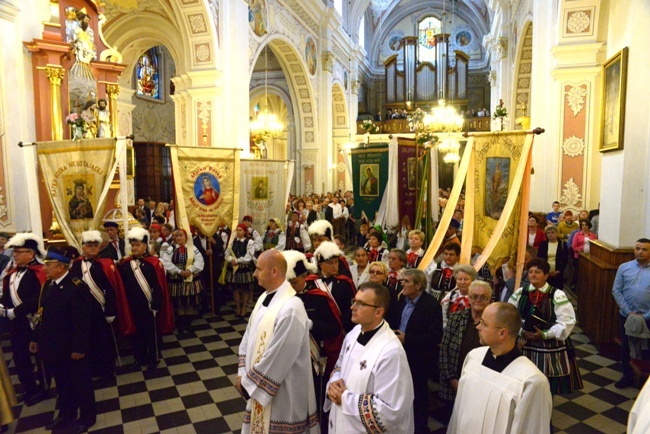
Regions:
<instances>
[{"instance_id":1,"label":"large gold banner with tall painting, including its long trailing cream ribbons","mask_svg":"<svg viewBox=\"0 0 650 434\"><path fill-rule=\"evenodd\" d=\"M521 276L526 240L522 239L520 222L529 201L533 138L527 131L471 136L420 269L426 268L442 245L465 185L461 263L468 264L472 250L478 249L482 253L474 268L478 270L487 263L494 273L497 266L517 253L517 276Z\"/></svg>"}]
</instances>

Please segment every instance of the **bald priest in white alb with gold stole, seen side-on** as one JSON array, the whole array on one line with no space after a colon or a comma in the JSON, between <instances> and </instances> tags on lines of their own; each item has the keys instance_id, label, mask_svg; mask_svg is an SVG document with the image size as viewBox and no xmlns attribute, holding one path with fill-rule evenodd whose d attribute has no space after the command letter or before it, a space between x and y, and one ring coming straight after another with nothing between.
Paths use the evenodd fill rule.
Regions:
<instances>
[{"instance_id":1,"label":"bald priest in white alb with gold stole, seen side-on","mask_svg":"<svg viewBox=\"0 0 650 434\"><path fill-rule=\"evenodd\" d=\"M278 250L260 255L255 277L266 291L239 345L235 387L246 399L242 433L319 433L308 318Z\"/></svg>"}]
</instances>

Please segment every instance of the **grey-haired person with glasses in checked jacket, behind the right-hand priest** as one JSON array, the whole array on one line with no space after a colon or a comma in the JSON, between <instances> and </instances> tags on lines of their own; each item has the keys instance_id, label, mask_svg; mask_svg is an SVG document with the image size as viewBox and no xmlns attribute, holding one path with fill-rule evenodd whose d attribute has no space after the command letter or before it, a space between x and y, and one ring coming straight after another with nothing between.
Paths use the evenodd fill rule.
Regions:
<instances>
[{"instance_id":1,"label":"grey-haired person with glasses in checked jacket, behind the right-hand priest","mask_svg":"<svg viewBox=\"0 0 650 434\"><path fill-rule=\"evenodd\" d=\"M450 415L465 356L474 348L481 346L476 326L492 300L492 287L487 282L475 280L469 285L467 298L469 309L449 316L440 344L440 391L438 393L447 405Z\"/></svg>"}]
</instances>

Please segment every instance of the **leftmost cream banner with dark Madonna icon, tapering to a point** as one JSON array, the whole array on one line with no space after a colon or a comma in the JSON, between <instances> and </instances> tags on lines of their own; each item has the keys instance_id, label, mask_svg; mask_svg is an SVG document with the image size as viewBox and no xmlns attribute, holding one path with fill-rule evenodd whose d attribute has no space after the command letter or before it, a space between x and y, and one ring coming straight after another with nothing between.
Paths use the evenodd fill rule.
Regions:
<instances>
[{"instance_id":1,"label":"leftmost cream banner with dark Madonna icon, tapering to a point","mask_svg":"<svg viewBox=\"0 0 650 434\"><path fill-rule=\"evenodd\" d=\"M81 233L102 221L104 200L116 167L116 144L88 139L39 142L38 162L59 226L69 245L81 249Z\"/></svg>"}]
</instances>

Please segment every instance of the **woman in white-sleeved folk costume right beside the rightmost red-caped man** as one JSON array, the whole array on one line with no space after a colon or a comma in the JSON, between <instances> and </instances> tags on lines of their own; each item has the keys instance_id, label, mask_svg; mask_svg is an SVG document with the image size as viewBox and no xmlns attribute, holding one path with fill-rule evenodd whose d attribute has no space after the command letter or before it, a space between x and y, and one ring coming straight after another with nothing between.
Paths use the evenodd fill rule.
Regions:
<instances>
[{"instance_id":1,"label":"woman in white-sleeved folk costume right beside the rightmost red-caped man","mask_svg":"<svg viewBox=\"0 0 650 434\"><path fill-rule=\"evenodd\" d=\"M187 244L185 229L172 233L174 242L161 248L160 261L167 271L167 282L172 303L176 308L178 332L188 332L192 325L194 309L201 301L203 285L199 273L203 271L203 256L194 244ZM189 252L192 249L194 260L188 266Z\"/></svg>"}]
</instances>

